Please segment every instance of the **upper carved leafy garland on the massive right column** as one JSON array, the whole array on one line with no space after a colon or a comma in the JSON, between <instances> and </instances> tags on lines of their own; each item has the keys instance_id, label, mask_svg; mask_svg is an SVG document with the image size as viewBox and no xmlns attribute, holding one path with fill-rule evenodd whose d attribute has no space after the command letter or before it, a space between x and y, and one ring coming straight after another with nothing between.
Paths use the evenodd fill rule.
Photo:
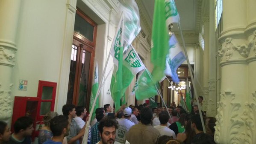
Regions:
<instances>
[{"instance_id":1,"label":"upper carved leafy garland on the massive right column","mask_svg":"<svg viewBox=\"0 0 256 144\"><path fill-rule=\"evenodd\" d=\"M232 38L228 37L225 40L225 43L222 44L222 48L221 50L218 51L218 55L221 57L221 59L223 58L223 56L226 57L226 61L230 60L230 58L233 55L234 51L238 51L238 53L244 57L247 58L249 53L250 53L250 49L255 45L255 36L253 37L252 40L249 40L249 44L245 44L242 43L241 45L232 43Z\"/></svg>"}]
</instances>

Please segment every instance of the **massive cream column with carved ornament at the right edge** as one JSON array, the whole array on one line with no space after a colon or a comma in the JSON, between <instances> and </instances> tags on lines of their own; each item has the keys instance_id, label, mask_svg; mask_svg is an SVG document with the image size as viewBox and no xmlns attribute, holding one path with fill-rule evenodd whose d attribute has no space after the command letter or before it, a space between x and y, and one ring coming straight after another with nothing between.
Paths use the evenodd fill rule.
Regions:
<instances>
[{"instance_id":1,"label":"massive cream column with carved ornament at the right edge","mask_svg":"<svg viewBox=\"0 0 256 144\"><path fill-rule=\"evenodd\" d=\"M256 23L251 4L255 2L223 1L221 95L215 127L219 144L256 143Z\"/></svg>"}]
</instances>

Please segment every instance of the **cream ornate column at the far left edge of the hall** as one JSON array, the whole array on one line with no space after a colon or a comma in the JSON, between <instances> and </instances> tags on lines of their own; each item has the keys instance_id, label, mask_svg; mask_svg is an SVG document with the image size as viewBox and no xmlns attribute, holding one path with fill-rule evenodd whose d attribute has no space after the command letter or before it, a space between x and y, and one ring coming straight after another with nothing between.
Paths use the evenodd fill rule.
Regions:
<instances>
[{"instance_id":1,"label":"cream ornate column at the far left edge of the hall","mask_svg":"<svg viewBox=\"0 0 256 144\"><path fill-rule=\"evenodd\" d=\"M6 122L10 122L12 116L12 67L17 51L20 5L21 0L0 1L0 120Z\"/></svg>"}]
</instances>

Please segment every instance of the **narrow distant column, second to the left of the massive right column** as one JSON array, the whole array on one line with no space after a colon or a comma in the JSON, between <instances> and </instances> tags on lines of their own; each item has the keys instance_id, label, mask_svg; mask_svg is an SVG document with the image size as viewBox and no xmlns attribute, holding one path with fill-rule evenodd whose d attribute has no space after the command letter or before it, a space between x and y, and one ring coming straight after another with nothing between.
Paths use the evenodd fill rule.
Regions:
<instances>
[{"instance_id":1,"label":"narrow distant column, second to the left of the massive right column","mask_svg":"<svg viewBox=\"0 0 256 144\"><path fill-rule=\"evenodd\" d=\"M209 17L203 17L204 26L204 50L203 50L203 111L207 111L208 100L209 100ZM208 112L207 112L208 113Z\"/></svg>"}]
</instances>

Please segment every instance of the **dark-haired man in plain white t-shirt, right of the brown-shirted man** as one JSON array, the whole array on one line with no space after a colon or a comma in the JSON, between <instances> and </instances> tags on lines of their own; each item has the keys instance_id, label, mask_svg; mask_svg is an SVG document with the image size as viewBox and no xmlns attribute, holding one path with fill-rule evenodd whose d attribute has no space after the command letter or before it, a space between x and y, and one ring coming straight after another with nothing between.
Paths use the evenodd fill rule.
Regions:
<instances>
[{"instance_id":1,"label":"dark-haired man in plain white t-shirt, right of the brown-shirted man","mask_svg":"<svg viewBox=\"0 0 256 144\"><path fill-rule=\"evenodd\" d=\"M174 139L176 139L175 132L167 127L167 123L169 120L169 115L167 111L162 111L159 113L159 121L160 125L154 126L159 132L160 135L168 135L172 136Z\"/></svg>"}]
</instances>

